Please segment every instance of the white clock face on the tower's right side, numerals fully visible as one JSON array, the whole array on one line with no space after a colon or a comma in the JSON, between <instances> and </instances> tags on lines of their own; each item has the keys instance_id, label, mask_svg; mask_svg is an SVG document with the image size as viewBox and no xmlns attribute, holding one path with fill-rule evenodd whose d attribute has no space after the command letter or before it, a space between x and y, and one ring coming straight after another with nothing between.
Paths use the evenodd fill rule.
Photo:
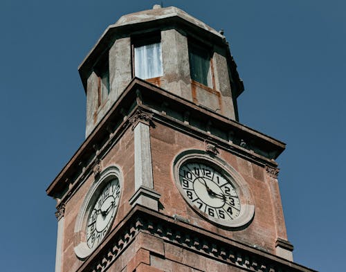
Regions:
<instances>
[{"instance_id":1,"label":"white clock face on the tower's right side, numerals fully visible","mask_svg":"<svg viewBox=\"0 0 346 272\"><path fill-rule=\"evenodd\" d=\"M234 181L207 161L188 161L179 168L185 199L209 219L223 224L236 219L242 209Z\"/></svg>"}]
</instances>

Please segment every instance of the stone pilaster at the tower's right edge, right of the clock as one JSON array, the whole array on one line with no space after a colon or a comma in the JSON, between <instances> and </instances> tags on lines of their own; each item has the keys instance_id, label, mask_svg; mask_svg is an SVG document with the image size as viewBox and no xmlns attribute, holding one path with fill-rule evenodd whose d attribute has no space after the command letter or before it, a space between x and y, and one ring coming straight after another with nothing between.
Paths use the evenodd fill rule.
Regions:
<instances>
[{"instance_id":1,"label":"stone pilaster at the tower's right edge, right of the clock","mask_svg":"<svg viewBox=\"0 0 346 272\"><path fill-rule=\"evenodd\" d=\"M277 235L277 239L275 241L276 255L293 262L293 245L287 240L286 226L284 224L284 213L282 210L282 202L277 181L279 169L266 166L266 172L273 203L275 230Z\"/></svg>"}]
</instances>

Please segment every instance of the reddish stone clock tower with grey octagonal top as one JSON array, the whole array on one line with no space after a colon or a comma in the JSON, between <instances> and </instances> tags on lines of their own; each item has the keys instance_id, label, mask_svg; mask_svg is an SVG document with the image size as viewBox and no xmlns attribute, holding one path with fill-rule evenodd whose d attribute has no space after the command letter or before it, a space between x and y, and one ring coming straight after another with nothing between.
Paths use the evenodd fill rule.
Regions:
<instances>
[{"instance_id":1,"label":"reddish stone clock tower with grey octagonal top","mask_svg":"<svg viewBox=\"0 0 346 272\"><path fill-rule=\"evenodd\" d=\"M155 5L109 26L79 71L86 139L46 190L55 272L312 271L286 235L285 144L239 123L223 33Z\"/></svg>"}]
</instances>

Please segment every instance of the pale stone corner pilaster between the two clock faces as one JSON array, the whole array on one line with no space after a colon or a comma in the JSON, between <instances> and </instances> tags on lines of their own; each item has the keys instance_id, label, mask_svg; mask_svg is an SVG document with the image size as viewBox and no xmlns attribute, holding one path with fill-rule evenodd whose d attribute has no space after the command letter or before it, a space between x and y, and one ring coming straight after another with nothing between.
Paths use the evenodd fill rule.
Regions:
<instances>
[{"instance_id":1,"label":"pale stone corner pilaster between the two clock faces","mask_svg":"<svg viewBox=\"0 0 346 272\"><path fill-rule=\"evenodd\" d=\"M143 205L158 210L160 194L154 190L152 152L150 147L150 122L152 114L137 110L129 122L134 130L135 193L129 199L132 206Z\"/></svg>"}]
</instances>

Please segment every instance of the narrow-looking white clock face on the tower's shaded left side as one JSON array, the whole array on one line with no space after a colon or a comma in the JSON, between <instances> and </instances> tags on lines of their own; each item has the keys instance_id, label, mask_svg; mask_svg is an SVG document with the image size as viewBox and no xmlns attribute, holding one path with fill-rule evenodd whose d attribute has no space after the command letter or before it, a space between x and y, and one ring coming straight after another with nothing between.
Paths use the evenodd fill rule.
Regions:
<instances>
[{"instance_id":1,"label":"narrow-looking white clock face on the tower's shaded left side","mask_svg":"<svg viewBox=\"0 0 346 272\"><path fill-rule=\"evenodd\" d=\"M86 224L86 244L93 249L107 234L116 215L120 199L118 179L107 182L103 189L96 194L96 200L91 206Z\"/></svg>"}]
</instances>

